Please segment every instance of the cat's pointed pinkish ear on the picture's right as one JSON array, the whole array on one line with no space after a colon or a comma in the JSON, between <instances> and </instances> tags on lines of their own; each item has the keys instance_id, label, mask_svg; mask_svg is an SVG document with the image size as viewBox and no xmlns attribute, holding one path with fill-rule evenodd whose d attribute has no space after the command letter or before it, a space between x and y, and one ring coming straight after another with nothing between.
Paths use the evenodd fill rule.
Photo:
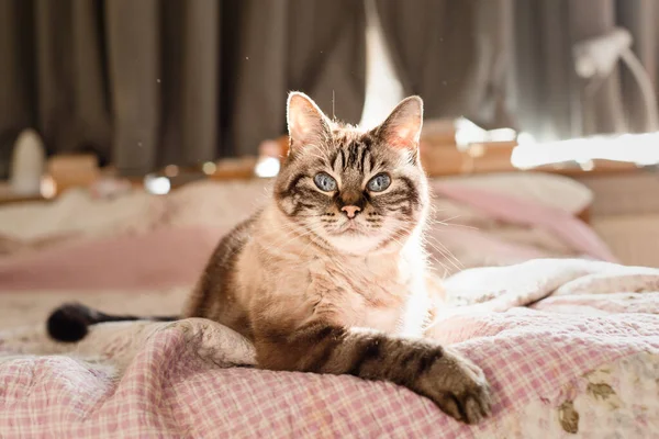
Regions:
<instances>
[{"instance_id":1,"label":"cat's pointed pinkish ear on the picture's right","mask_svg":"<svg viewBox=\"0 0 659 439\"><path fill-rule=\"evenodd\" d=\"M375 132L393 148L416 150L422 126L423 101L420 97L410 97L403 99Z\"/></svg>"}]
</instances>

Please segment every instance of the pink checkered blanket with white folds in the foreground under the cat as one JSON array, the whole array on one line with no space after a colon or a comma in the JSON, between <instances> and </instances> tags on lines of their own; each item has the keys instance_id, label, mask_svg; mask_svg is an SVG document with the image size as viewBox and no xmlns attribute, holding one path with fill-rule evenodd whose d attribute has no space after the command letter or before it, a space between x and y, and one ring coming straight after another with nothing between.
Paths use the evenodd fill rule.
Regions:
<instances>
[{"instance_id":1,"label":"pink checkered blanket with white folds in the foreground under the cat","mask_svg":"<svg viewBox=\"0 0 659 439\"><path fill-rule=\"evenodd\" d=\"M429 331L480 364L493 417L466 426L384 382L252 369L203 319L105 324L82 342L0 334L0 437L540 438L659 431L659 270L541 259L447 280Z\"/></svg>"}]
</instances>

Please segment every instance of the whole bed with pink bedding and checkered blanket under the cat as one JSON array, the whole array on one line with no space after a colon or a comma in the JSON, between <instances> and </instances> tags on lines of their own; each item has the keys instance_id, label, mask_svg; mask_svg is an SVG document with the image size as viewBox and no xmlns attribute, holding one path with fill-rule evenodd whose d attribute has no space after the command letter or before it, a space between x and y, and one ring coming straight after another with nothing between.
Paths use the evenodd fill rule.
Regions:
<instances>
[{"instance_id":1,"label":"whole bed with pink bedding and checkered blanket under the cat","mask_svg":"<svg viewBox=\"0 0 659 439\"><path fill-rule=\"evenodd\" d=\"M447 293L426 335L491 381L494 414L479 426L391 383L256 370L247 340L203 319L99 325L72 346L45 336L63 301L176 313L267 181L0 209L0 436L647 437L659 270L617 263L578 218L588 190L523 178L432 183L428 249Z\"/></svg>"}]
</instances>

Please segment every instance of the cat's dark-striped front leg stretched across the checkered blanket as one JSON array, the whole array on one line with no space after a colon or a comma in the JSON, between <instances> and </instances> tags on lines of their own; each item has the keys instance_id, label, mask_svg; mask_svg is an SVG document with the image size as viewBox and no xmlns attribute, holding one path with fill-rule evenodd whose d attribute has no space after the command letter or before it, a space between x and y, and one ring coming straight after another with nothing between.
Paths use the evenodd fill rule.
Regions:
<instances>
[{"instance_id":1,"label":"cat's dark-striped front leg stretched across the checkered blanket","mask_svg":"<svg viewBox=\"0 0 659 439\"><path fill-rule=\"evenodd\" d=\"M483 372L466 358L426 339L314 320L290 330L255 322L257 362L264 369L351 374L406 386L467 424L490 415Z\"/></svg>"}]
</instances>

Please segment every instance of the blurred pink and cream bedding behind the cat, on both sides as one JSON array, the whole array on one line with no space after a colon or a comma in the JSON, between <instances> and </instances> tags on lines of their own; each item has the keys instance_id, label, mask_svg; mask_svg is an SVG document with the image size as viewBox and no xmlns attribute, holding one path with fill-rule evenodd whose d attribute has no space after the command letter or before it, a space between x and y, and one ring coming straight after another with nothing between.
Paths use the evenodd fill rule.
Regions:
<instances>
[{"instance_id":1,"label":"blurred pink and cream bedding behind the cat, on both sides","mask_svg":"<svg viewBox=\"0 0 659 439\"><path fill-rule=\"evenodd\" d=\"M440 275L534 258L615 260L567 210L573 203L543 204L485 183L491 188L432 183L426 247ZM110 200L72 190L53 203L0 209L0 292L189 286L217 239L263 205L269 190L264 181L204 181L167 196L135 191Z\"/></svg>"}]
</instances>

